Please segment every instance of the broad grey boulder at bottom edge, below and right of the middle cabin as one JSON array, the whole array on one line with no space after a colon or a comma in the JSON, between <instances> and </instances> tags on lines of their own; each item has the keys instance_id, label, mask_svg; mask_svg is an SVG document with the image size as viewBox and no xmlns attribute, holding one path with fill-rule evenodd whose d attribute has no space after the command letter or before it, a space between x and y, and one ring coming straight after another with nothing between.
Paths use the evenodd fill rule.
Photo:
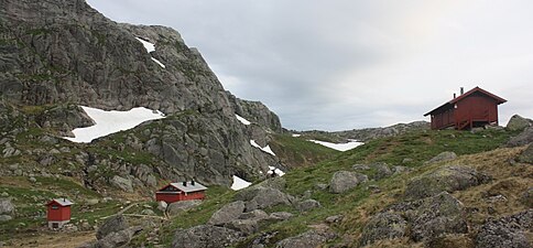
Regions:
<instances>
[{"instance_id":1,"label":"broad grey boulder at bottom edge, below and right of the middle cabin","mask_svg":"<svg viewBox=\"0 0 533 248\"><path fill-rule=\"evenodd\" d=\"M200 225L188 229L177 229L172 241L173 248L219 248L241 241L240 231L220 226Z\"/></svg>"}]
</instances>

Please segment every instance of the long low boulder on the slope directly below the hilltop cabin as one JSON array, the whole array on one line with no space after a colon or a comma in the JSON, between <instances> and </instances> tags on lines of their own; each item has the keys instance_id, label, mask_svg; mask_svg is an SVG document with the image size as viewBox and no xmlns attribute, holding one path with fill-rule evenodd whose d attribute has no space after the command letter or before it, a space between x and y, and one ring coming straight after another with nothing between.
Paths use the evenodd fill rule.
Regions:
<instances>
[{"instance_id":1,"label":"long low boulder on the slope directly below the hilltop cabin","mask_svg":"<svg viewBox=\"0 0 533 248\"><path fill-rule=\"evenodd\" d=\"M490 176L465 165L450 165L413 179L405 190L405 196L418 200L443 191L455 192L487 183Z\"/></svg>"}]
</instances>

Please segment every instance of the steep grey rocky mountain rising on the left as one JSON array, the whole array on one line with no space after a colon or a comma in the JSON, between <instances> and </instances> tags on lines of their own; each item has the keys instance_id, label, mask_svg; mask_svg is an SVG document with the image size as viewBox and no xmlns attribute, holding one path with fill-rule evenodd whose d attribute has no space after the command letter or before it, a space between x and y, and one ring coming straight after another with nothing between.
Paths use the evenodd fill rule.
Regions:
<instances>
[{"instance_id":1,"label":"steep grey rocky mountain rising on the left","mask_svg":"<svg viewBox=\"0 0 533 248\"><path fill-rule=\"evenodd\" d=\"M83 105L108 110L146 107L167 116L131 131L128 142L118 147L112 140L117 137L94 141L160 161L141 174L229 185L233 174L253 179L279 163L250 145L253 137L265 145L266 131L281 130L275 114L226 91L199 52L170 28L116 23L84 0L6 0L0 3L0 51L3 105L26 120L6 143L23 154L29 152L14 138L32 128L66 136L90 126L77 107ZM255 122L253 128L239 122L236 112ZM113 161L109 154L80 151L72 157L79 158L74 166L86 174L94 165L123 168L119 176L139 180L137 164ZM39 163L39 158L32 159L30 164Z\"/></svg>"}]
</instances>

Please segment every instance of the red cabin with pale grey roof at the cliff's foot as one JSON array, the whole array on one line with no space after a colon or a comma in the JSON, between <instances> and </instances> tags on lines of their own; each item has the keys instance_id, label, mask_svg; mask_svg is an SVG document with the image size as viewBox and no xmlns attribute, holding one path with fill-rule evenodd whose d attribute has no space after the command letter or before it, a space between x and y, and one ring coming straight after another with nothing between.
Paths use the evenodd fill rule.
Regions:
<instances>
[{"instance_id":1,"label":"red cabin with pale grey roof at the cliff's foot","mask_svg":"<svg viewBox=\"0 0 533 248\"><path fill-rule=\"evenodd\" d=\"M206 186L194 180L189 182L170 183L155 192L155 201L174 203L180 201L204 200L206 197Z\"/></svg>"}]
</instances>

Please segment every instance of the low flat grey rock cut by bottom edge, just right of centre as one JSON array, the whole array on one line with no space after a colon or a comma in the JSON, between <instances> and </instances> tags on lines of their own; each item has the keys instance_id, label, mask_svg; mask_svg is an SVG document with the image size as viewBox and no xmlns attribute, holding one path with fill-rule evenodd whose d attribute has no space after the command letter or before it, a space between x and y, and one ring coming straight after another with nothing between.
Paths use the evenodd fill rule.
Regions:
<instances>
[{"instance_id":1,"label":"low flat grey rock cut by bottom edge, just right of centre","mask_svg":"<svg viewBox=\"0 0 533 248\"><path fill-rule=\"evenodd\" d=\"M295 237L285 238L275 244L275 248L309 248L320 247L328 240L336 238L330 231L308 230Z\"/></svg>"}]
</instances>

